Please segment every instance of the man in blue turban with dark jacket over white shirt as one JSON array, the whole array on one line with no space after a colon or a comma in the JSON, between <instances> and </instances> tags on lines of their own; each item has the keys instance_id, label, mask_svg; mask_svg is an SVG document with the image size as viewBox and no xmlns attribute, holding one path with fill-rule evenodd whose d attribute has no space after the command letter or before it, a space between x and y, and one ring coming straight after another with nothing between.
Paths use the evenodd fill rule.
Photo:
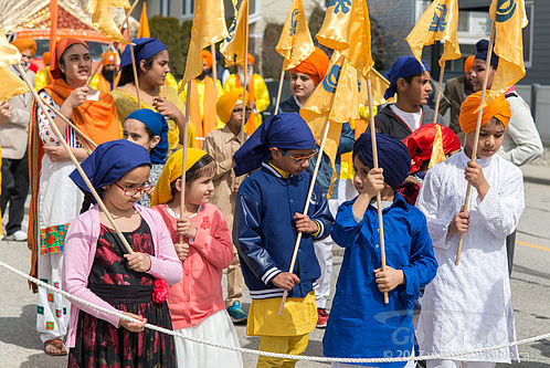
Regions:
<instances>
[{"instance_id":1,"label":"man in blue turban with dark jacket over white shirt","mask_svg":"<svg viewBox=\"0 0 550 368\"><path fill-rule=\"evenodd\" d=\"M392 65L385 75L390 86L384 97L396 95L395 104L389 104L374 116L377 130L399 139L406 138L424 124L434 122L435 112L427 106L432 92L430 70L422 61L413 56L403 56ZM437 123L447 125L443 116L437 116Z\"/></svg>"}]
</instances>

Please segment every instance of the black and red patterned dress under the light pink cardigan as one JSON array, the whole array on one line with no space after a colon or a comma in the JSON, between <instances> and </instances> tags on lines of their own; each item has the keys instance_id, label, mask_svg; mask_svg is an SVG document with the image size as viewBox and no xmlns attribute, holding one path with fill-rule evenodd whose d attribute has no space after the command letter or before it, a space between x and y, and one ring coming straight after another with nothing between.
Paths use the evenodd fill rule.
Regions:
<instances>
[{"instance_id":1,"label":"black and red patterned dress under the light pink cardigan","mask_svg":"<svg viewBox=\"0 0 550 368\"><path fill-rule=\"evenodd\" d=\"M137 230L124 235L136 252L155 255L146 221L141 220ZM115 232L102 224L88 287L115 308L172 329L167 302L159 304L151 299L155 277L130 270L125 253ZM68 367L176 367L173 338L147 328L131 333L81 311Z\"/></svg>"}]
</instances>

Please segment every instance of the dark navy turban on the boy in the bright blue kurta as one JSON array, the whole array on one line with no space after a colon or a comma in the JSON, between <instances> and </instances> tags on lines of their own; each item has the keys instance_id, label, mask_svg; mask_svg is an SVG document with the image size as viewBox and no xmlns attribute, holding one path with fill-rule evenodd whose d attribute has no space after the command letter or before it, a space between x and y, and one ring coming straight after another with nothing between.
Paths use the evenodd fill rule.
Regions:
<instances>
[{"instance_id":1,"label":"dark navy turban on the boy in the bright blue kurta","mask_svg":"<svg viewBox=\"0 0 550 368\"><path fill-rule=\"evenodd\" d=\"M353 144L353 159L359 159L373 168L372 139L370 132L359 136ZM400 186L411 171L411 156L406 146L395 137L377 133L378 166L384 169L384 181L392 188Z\"/></svg>"}]
</instances>

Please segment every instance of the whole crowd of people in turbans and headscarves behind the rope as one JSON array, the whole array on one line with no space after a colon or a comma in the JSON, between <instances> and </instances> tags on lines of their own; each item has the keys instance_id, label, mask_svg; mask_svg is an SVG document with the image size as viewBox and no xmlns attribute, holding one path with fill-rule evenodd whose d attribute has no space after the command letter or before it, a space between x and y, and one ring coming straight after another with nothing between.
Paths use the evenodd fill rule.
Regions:
<instances>
[{"instance_id":1,"label":"whole crowd of people in turbans and headscarves behind the rope","mask_svg":"<svg viewBox=\"0 0 550 368\"><path fill-rule=\"evenodd\" d=\"M509 274L525 207L518 166L541 155L542 144L528 105L511 87L484 108L474 147L482 82L488 73L490 87L498 66L493 54L485 67L491 52L486 40L465 59L465 75L446 83L440 113L451 108L449 123L427 105L427 65L398 59L384 96L395 103L378 106L374 116L379 168L362 111L362 119L341 126L334 190L332 164L299 115L329 67L324 51L316 48L289 71L292 96L264 120L269 96L252 55L246 77L242 67L231 74L218 64L214 80L218 55L202 51L203 72L187 91L170 74L159 40L133 43L134 55L130 48L120 56L106 51L88 84L87 44L61 39L43 55L44 70L27 71L46 109L30 93L0 103L6 239L28 241L31 275L140 320L31 284L47 355L68 355L70 367L243 366L240 353L145 329L145 323L234 347L234 324L245 323L248 336L260 336L261 350L293 355L305 351L309 333L326 328L324 355L336 358L435 355L515 340ZM13 44L28 70L34 41ZM336 290L334 244L345 249ZM497 349L429 360L427 367L485 368L516 358L516 348ZM261 356L257 367L295 364Z\"/></svg>"}]
</instances>

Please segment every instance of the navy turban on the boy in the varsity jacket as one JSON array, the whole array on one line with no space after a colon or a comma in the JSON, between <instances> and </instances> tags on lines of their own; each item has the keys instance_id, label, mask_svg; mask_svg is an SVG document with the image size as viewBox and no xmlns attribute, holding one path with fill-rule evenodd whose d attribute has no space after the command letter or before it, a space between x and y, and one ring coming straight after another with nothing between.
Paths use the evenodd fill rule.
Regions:
<instances>
[{"instance_id":1,"label":"navy turban on the boy in the varsity jacket","mask_svg":"<svg viewBox=\"0 0 550 368\"><path fill-rule=\"evenodd\" d=\"M315 138L298 114L277 114L257 127L256 132L233 155L235 175L253 171L267 162L269 148L314 149Z\"/></svg>"}]
</instances>

